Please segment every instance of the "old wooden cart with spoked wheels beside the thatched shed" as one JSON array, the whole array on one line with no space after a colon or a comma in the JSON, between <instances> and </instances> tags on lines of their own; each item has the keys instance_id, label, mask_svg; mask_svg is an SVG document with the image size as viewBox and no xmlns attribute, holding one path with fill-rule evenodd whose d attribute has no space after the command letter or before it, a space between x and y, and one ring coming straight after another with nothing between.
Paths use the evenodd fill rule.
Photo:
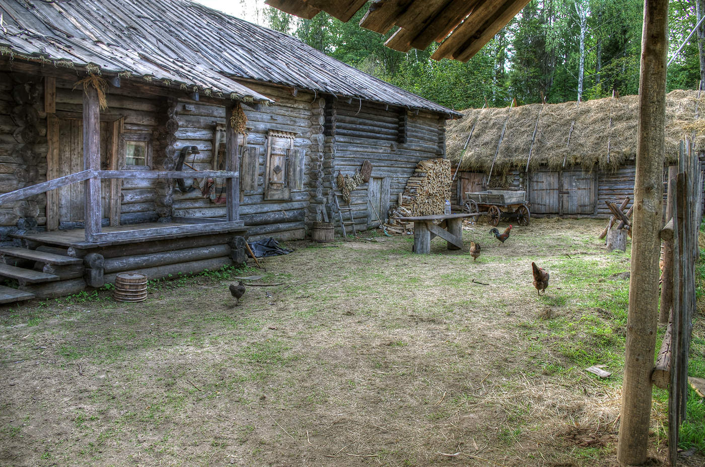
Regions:
<instances>
[{"instance_id":1,"label":"old wooden cart with spoked wheels beside the thatched shed","mask_svg":"<svg viewBox=\"0 0 705 467\"><path fill-rule=\"evenodd\" d=\"M526 192L507 189L488 189L486 192L465 193L463 211L486 214L489 225L495 227L503 218L515 219L519 225L529 225L531 213Z\"/></svg>"}]
</instances>

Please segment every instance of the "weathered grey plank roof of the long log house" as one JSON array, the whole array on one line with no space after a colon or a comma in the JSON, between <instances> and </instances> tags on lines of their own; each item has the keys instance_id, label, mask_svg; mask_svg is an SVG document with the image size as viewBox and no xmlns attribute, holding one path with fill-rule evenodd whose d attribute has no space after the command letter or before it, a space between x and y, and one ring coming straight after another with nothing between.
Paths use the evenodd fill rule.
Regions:
<instances>
[{"instance_id":1,"label":"weathered grey plank roof of the long log house","mask_svg":"<svg viewBox=\"0 0 705 467\"><path fill-rule=\"evenodd\" d=\"M247 88L252 80L460 116L298 39L188 0L0 0L0 12L3 55L244 100L269 100Z\"/></svg>"}]
</instances>

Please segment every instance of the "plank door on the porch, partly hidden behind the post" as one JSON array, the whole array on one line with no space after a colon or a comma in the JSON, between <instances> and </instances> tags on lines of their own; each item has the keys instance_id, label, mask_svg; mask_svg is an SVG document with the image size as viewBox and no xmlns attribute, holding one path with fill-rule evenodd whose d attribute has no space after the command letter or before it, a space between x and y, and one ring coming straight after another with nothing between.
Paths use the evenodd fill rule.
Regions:
<instances>
[{"instance_id":1,"label":"plank door on the porch, partly hidden behind the post","mask_svg":"<svg viewBox=\"0 0 705 467\"><path fill-rule=\"evenodd\" d=\"M100 124L101 168L107 168L105 154L112 133L107 122ZM59 167L58 177L83 170L83 122L75 118L59 119ZM61 187L59 192L59 225L61 228L81 228L85 217L85 194L83 183L72 183ZM101 183L102 213L107 216L110 208L110 182Z\"/></svg>"}]
</instances>

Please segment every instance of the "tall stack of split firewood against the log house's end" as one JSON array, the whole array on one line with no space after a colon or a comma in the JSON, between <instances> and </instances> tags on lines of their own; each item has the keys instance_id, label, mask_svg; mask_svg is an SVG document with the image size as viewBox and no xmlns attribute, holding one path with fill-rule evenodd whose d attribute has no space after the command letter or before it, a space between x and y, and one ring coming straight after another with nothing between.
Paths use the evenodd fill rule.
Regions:
<instances>
[{"instance_id":1,"label":"tall stack of split firewood against the log house's end","mask_svg":"<svg viewBox=\"0 0 705 467\"><path fill-rule=\"evenodd\" d=\"M397 218L442 214L446 199L450 199L450 161L443 158L427 159L417 164L416 170L399 194L399 205L389 210L391 232L410 232L413 223L402 223Z\"/></svg>"}]
</instances>

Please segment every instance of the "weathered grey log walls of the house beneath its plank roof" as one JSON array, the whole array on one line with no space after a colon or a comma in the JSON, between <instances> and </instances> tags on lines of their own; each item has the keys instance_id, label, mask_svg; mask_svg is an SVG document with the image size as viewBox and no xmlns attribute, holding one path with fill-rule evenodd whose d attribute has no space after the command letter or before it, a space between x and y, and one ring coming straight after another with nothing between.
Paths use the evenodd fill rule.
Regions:
<instances>
[{"instance_id":1,"label":"weathered grey log walls of the house beneath its plank roof","mask_svg":"<svg viewBox=\"0 0 705 467\"><path fill-rule=\"evenodd\" d=\"M18 75L18 72L0 73L0 193L23 187L23 183L34 185L47 179L47 113L44 112L43 72L30 64L18 67L22 73L27 73L22 79L34 76L32 79L37 80L39 89L31 104L39 116L35 129L38 137L31 148L37 161L30 161L33 162L31 170L18 170L23 166L17 161L18 148L27 149L26 144L13 137L18 125L11 117L13 108L17 106L13 98L15 80L11 74ZM35 75L30 73L32 70ZM61 69L51 70L50 75L56 82L56 116L79 119L82 113L82 85L77 85L78 77L71 70ZM190 165L197 169L215 168L217 148L214 148L214 132L216 125L226 123L224 106L212 104L212 99L190 100L187 92L174 90L167 96L165 89L152 89L130 80L123 81L122 87L109 86L106 94L108 109L101 113L102 122L111 123L104 125L107 129L102 130L105 133L101 136L102 168L113 168L106 155L110 154L111 147L118 144L111 146L112 134L109 134L116 127L124 135L141 135L150 139L152 168L173 170L173 163L185 146L195 146L199 150L199 154L188 157ZM396 204L398 194L403 191L416 164L423 159L439 157L445 150L445 119L435 113L415 114L405 108L364 101L347 102L333 96L326 97L326 103L323 97L300 89L257 83L248 83L247 86L275 101L273 105L261 106L257 110L243 106L247 117L247 148L254 149L257 158L257 167L254 168L257 182L255 189L241 193L240 215L245 225L250 227L253 237L303 238L309 233L312 223L318 220L320 206L326 207L339 228L337 213L333 216L332 209L334 175L338 171L352 175L360 169L364 160L372 162L372 177L383 179L383 182L377 180L377 183L384 190L381 201L384 209L379 213L384 220L386 208ZM112 122L118 123L113 125ZM293 150L304 154L302 175L298 178L300 182L291 187L290 199L264 199L267 135L271 130L293 133ZM114 135L118 142L120 134ZM59 139L66 141L66 135L59 135ZM114 154L122 158L122 152L118 149ZM190 185L191 180L185 182ZM114 208L118 207L121 224L160 218L168 220L169 216L226 216L225 205L212 202L198 190L181 192L174 182L122 180L111 187L109 180L106 180L103 185L106 200L101 206L103 225L109 225L111 218L116 222ZM370 214L368 189L369 184L364 184L353 192L353 216L359 230L369 228L370 219L376 217ZM119 199L114 208L108 201L111 193L114 199ZM3 237L0 240L6 240L8 232L18 230L18 223L25 230L46 228L46 199L42 195L12 206L1 206L0 228L3 230L0 233ZM76 210L77 213L79 211ZM59 225L59 228L80 227L80 221Z\"/></svg>"}]
</instances>

